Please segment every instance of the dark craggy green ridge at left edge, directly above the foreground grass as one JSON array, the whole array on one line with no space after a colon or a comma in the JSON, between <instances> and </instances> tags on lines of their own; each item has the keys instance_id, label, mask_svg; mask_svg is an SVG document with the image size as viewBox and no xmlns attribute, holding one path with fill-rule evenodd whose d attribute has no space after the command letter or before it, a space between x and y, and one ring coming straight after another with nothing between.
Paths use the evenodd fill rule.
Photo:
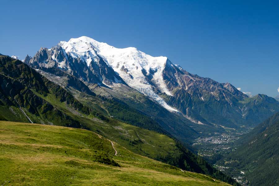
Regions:
<instances>
[{"instance_id":1,"label":"dark craggy green ridge at left edge, directly above the foreground grass","mask_svg":"<svg viewBox=\"0 0 279 186\"><path fill-rule=\"evenodd\" d=\"M53 96L61 104L65 102L65 106L68 105L77 112L90 114L90 110L72 95L19 60L0 56L0 79L0 115L6 120L81 127L79 122L38 94Z\"/></svg>"}]
</instances>

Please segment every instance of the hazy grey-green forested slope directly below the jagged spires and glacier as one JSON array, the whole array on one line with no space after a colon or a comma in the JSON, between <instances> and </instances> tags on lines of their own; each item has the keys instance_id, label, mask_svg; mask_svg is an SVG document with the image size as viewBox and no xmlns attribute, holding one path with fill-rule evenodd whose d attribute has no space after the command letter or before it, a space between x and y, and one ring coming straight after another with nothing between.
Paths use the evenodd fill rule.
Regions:
<instances>
[{"instance_id":1,"label":"hazy grey-green forested slope directly below the jagged spires and glacier","mask_svg":"<svg viewBox=\"0 0 279 186\"><path fill-rule=\"evenodd\" d=\"M166 134L166 131L169 131L169 134L172 133L187 143L191 143L192 139L196 139L199 136L195 130L188 126L191 122L186 118L171 115L170 112L163 109L159 104L152 102L128 86L123 85L126 87L125 90L129 90L128 96L126 96L127 92L123 92L123 90L119 90L116 95L116 89L112 91L112 89L106 87L95 87L95 90L101 89L101 91L105 91L106 97L110 97L108 94L112 96L110 99L107 99L99 95L94 96L95 94L82 81L65 73L63 70L42 68L42 70L37 69L36 71L71 92L75 95L76 99L89 108L97 110L104 115L116 117L123 122L160 133ZM125 97L122 95L125 95ZM153 119L150 119L150 117ZM162 128L165 130L163 131Z\"/></svg>"}]
</instances>

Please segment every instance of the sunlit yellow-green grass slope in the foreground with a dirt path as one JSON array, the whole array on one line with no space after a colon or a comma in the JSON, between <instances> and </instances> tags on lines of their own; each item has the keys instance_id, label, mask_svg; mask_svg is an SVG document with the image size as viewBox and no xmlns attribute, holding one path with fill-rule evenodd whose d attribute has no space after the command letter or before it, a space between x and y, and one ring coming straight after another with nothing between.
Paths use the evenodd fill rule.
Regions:
<instances>
[{"instance_id":1,"label":"sunlit yellow-green grass slope in the foreground with a dirt path","mask_svg":"<svg viewBox=\"0 0 279 186\"><path fill-rule=\"evenodd\" d=\"M1 121L0 152L5 185L228 185L69 127Z\"/></svg>"}]
</instances>

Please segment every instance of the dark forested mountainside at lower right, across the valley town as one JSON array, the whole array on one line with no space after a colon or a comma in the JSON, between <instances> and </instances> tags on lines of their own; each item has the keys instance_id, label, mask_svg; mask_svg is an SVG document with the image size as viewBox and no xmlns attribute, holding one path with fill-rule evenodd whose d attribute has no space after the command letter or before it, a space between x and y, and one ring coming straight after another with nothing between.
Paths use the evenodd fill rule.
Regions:
<instances>
[{"instance_id":1,"label":"dark forested mountainside at lower right, across the valley town","mask_svg":"<svg viewBox=\"0 0 279 186\"><path fill-rule=\"evenodd\" d=\"M277 186L279 183L279 113L265 120L249 134L243 143L225 159L226 167L244 172L253 186Z\"/></svg>"}]
</instances>

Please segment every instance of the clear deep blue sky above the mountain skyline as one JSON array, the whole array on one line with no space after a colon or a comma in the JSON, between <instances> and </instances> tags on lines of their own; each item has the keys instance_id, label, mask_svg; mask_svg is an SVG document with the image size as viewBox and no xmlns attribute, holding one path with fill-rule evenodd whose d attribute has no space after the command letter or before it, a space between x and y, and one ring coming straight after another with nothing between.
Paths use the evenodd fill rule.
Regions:
<instances>
[{"instance_id":1,"label":"clear deep blue sky above the mountain skyline","mask_svg":"<svg viewBox=\"0 0 279 186\"><path fill-rule=\"evenodd\" d=\"M0 0L0 53L88 36L167 56L190 73L242 91L279 93L279 1Z\"/></svg>"}]
</instances>

